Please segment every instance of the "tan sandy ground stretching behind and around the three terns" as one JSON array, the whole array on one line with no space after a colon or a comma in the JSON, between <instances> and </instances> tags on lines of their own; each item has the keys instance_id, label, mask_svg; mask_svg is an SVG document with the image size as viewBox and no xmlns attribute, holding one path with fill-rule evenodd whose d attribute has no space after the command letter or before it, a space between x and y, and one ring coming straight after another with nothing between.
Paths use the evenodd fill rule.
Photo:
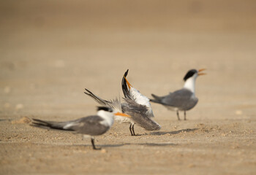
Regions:
<instances>
[{"instance_id":1,"label":"tan sandy ground stretching behind and around the three terns","mask_svg":"<svg viewBox=\"0 0 256 175\"><path fill-rule=\"evenodd\" d=\"M256 174L255 19L255 1L1 3L0 174ZM187 121L152 104L160 131L115 123L101 151L20 122L95 114L84 88L122 96L127 69L149 97L201 68Z\"/></svg>"}]
</instances>

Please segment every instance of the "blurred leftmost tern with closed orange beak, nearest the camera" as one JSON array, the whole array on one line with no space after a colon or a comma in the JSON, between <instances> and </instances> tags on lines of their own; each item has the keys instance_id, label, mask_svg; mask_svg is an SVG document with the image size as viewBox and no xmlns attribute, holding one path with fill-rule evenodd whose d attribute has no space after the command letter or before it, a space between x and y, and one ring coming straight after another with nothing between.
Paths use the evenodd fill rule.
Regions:
<instances>
[{"instance_id":1,"label":"blurred leftmost tern with closed orange beak, nearest the camera","mask_svg":"<svg viewBox=\"0 0 256 175\"><path fill-rule=\"evenodd\" d=\"M102 135L110 129L114 122L114 115L120 115L123 117L130 116L120 112L114 113L113 109L105 106L99 106L97 111L97 115L82 117L80 119L70 120L67 122L53 122L33 119L33 124L38 126L39 128L52 128L64 131L75 131L76 133L83 134L83 136L91 136L91 144L93 149L101 149L95 147L94 136Z\"/></svg>"}]
</instances>

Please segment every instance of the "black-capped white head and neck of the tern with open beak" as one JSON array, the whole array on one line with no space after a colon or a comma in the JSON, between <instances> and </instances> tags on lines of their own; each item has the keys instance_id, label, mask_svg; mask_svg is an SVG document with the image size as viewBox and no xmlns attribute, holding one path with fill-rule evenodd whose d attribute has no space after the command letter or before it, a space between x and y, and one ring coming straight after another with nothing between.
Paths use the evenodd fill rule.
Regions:
<instances>
[{"instance_id":1,"label":"black-capped white head and neck of the tern with open beak","mask_svg":"<svg viewBox=\"0 0 256 175\"><path fill-rule=\"evenodd\" d=\"M187 88L192 91L192 93L195 93L195 79L197 79L197 76L203 75L205 73L200 73L200 71L203 71L205 69L191 69L187 72L187 74L184 77L184 88Z\"/></svg>"}]
</instances>

